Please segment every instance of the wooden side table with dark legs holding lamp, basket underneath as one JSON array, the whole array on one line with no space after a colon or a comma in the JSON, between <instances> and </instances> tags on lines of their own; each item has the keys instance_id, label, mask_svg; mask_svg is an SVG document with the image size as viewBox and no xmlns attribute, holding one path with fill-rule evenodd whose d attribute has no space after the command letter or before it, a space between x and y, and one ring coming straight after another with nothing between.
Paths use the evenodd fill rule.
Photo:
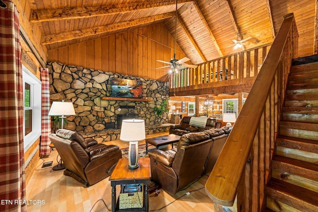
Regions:
<instances>
[{"instance_id":1,"label":"wooden side table with dark legs holding lamp, basket underneath","mask_svg":"<svg viewBox=\"0 0 318 212\"><path fill-rule=\"evenodd\" d=\"M128 159L122 158L116 164L113 172L109 177L111 189L111 211L129 211L130 209L119 210L116 208L116 185L123 184L144 184L144 204L141 209L131 209L130 211L149 211L149 183L151 178L151 170L150 170L150 158L138 158L138 169L129 169L128 168Z\"/></svg>"}]
</instances>

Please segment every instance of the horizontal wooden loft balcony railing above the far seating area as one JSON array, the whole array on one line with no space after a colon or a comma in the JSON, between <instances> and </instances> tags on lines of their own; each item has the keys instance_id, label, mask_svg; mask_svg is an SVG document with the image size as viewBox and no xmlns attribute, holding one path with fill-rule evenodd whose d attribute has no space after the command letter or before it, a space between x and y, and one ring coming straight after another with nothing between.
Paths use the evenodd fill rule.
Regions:
<instances>
[{"instance_id":1,"label":"horizontal wooden loft balcony railing above the far seating area","mask_svg":"<svg viewBox=\"0 0 318 212\"><path fill-rule=\"evenodd\" d=\"M209 86L208 84L231 79L239 79L241 83L243 78L258 74L270 46L271 44L266 44L199 64L195 69L185 68L173 72L170 77L170 88L173 88L174 91L178 91L178 88L186 90L187 87L193 89L198 85ZM219 86L222 84L219 83Z\"/></svg>"}]
</instances>

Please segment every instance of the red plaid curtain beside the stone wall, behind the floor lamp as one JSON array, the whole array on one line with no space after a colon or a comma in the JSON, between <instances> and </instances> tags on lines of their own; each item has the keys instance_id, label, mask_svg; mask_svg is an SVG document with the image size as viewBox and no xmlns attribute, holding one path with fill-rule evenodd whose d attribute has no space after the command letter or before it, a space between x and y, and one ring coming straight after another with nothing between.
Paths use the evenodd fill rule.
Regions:
<instances>
[{"instance_id":1,"label":"red plaid curtain beside the stone wall, behind the floor lamp","mask_svg":"<svg viewBox=\"0 0 318 212\"><path fill-rule=\"evenodd\" d=\"M42 81L42 132L40 142L40 155L50 155L50 139L51 133L51 117L48 115L50 111L50 79L49 69L41 68Z\"/></svg>"}]
</instances>

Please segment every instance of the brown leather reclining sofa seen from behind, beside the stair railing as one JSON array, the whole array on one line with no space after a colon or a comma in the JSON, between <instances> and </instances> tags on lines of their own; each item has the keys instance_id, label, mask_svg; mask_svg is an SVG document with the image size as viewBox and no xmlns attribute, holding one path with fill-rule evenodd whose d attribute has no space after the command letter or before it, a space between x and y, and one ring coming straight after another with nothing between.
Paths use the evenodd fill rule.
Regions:
<instances>
[{"instance_id":1,"label":"brown leather reclining sofa seen from behind, beside the stair railing","mask_svg":"<svg viewBox=\"0 0 318 212\"><path fill-rule=\"evenodd\" d=\"M212 170L231 130L232 126L184 134L176 148L150 151L152 180L176 194Z\"/></svg>"}]
</instances>

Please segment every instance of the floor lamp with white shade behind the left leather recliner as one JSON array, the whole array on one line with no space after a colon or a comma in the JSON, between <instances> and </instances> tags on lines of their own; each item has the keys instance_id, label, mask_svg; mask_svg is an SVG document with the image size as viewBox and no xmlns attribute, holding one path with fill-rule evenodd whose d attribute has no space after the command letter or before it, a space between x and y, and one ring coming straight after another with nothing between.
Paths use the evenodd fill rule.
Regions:
<instances>
[{"instance_id":1,"label":"floor lamp with white shade behind the left leather recliner","mask_svg":"<svg viewBox=\"0 0 318 212\"><path fill-rule=\"evenodd\" d=\"M52 103L51 109L49 111L49 116L60 116L59 118L62 118L61 129L63 129L64 127L64 118L71 115L76 115L72 102L65 102L63 100L62 102ZM61 158L60 161L58 161L58 164L53 167L53 170L57 171L62 169L65 169L65 166Z\"/></svg>"}]
</instances>

